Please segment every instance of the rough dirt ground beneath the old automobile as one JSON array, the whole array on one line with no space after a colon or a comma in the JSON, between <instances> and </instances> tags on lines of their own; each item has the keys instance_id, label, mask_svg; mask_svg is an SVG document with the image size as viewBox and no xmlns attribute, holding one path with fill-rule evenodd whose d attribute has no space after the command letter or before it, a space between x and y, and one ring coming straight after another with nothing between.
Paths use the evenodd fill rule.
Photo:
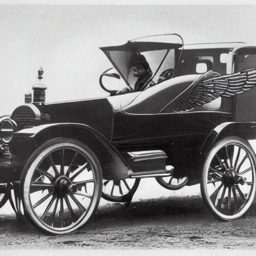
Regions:
<instances>
[{"instance_id":1,"label":"rough dirt ground beneath the old automobile","mask_svg":"<svg viewBox=\"0 0 256 256\"><path fill-rule=\"evenodd\" d=\"M194 195L162 191L167 192L154 198L134 195L130 205L100 203L94 218L68 235L47 236L26 219L17 221L13 213L1 209L0 249L256 248L252 211L247 217L221 222L205 208L197 190Z\"/></svg>"}]
</instances>

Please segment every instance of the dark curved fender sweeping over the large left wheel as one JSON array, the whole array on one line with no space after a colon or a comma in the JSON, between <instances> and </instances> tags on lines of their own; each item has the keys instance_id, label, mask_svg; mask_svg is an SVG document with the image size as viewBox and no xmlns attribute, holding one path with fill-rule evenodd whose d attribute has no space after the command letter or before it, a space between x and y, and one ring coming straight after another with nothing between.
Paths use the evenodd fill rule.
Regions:
<instances>
[{"instance_id":1,"label":"dark curved fender sweeping over the large left wheel","mask_svg":"<svg viewBox=\"0 0 256 256\"><path fill-rule=\"evenodd\" d=\"M52 123L34 126L14 133L14 139L29 139L35 148L56 137L75 138L98 157L102 174L107 179L124 179L131 170L119 151L100 132L80 123Z\"/></svg>"}]
</instances>

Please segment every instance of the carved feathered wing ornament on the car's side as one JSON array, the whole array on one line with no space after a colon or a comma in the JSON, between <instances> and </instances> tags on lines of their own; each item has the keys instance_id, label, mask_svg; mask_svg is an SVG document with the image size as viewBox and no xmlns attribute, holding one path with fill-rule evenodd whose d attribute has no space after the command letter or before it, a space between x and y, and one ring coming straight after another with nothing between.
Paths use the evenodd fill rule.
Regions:
<instances>
[{"instance_id":1,"label":"carved feathered wing ornament on the car's side","mask_svg":"<svg viewBox=\"0 0 256 256\"><path fill-rule=\"evenodd\" d=\"M251 68L222 76L210 70L200 75L191 85L192 92L183 95L178 103L175 102L176 106L172 108L174 112L189 111L195 106L209 103L219 96L230 97L250 90L256 85L256 69Z\"/></svg>"}]
</instances>

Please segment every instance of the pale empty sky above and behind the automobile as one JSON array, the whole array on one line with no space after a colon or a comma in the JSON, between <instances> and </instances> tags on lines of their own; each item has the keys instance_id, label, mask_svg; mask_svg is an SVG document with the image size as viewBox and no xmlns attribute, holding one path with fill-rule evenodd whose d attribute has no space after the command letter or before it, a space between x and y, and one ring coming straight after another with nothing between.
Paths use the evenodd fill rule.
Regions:
<instances>
[{"instance_id":1,"label":"pale empty sky above and behind the automobile","mask_svg":"<svg viewBox=\"0 0 256 256\"><path fill-rule=\"evenodd\" d=\"M0 115L24 102L44 69L46 101L104 96L98 48L179 33L185 43L256 43L255 5L0 5Z\"/></svg>"}]
</instances>

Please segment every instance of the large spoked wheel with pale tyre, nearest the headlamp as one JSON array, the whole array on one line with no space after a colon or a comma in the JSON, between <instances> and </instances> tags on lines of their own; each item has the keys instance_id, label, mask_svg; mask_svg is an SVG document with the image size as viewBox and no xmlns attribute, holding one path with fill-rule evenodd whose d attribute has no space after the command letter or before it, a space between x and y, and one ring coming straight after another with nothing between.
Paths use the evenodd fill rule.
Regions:
<instances>
[{"instance_id":1,"label":"large spoked wheel with pale tyre, nearest the headlamp","mask_svg":"<svg viewBox=\"0 0 256 256\"><path fill-rule=\"evenodd\" d=\"M30 156L20 185L30 222L46 233L66 234L93 216L101 196L101 168L85 144L55 138Z\"/></svg>"}]
</instances>

